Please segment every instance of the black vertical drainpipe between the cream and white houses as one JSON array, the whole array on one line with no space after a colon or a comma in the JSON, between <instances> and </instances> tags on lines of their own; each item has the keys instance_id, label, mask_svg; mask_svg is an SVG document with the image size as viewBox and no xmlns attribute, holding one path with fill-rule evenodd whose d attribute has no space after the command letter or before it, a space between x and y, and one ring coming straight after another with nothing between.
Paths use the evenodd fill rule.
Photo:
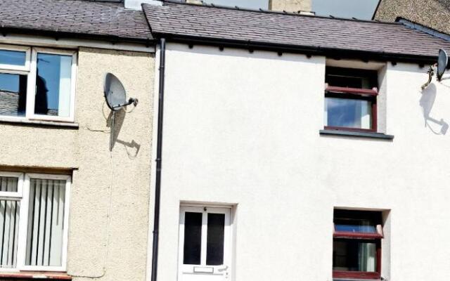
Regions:
<instances>
[{"instance_id":1,"label":"black vertical drainpipe between the cream and white houses","mask_svg":"<svg viewBox=\"0 0 450 281\"><path fill-rule=\"evenodd\" d=\"M153 221L152 277L156 281L158 273L158 234L160 231L161 158L162 158L162 112L164 110L166 40L161 38L160 49L160 93L158 100L158 143L156 144L155 218Z\"/></svg>"}]
</instances>

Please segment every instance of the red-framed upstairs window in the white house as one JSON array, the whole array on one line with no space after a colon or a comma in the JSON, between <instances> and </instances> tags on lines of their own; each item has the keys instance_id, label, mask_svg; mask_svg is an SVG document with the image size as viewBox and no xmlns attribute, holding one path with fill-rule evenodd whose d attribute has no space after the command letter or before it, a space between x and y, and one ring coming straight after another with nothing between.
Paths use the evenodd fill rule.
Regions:
<instances>
[{"instance_id":1,"label":"red-framed upstairs window in the white house","mask_svg":"<svg viewBox=\"0 0 450 281\"><path fill-rule=\"evenodd\" d=\"M377 131L377 75L373 70L326 67L325 129Z\"/></svg>"}]
</instances>

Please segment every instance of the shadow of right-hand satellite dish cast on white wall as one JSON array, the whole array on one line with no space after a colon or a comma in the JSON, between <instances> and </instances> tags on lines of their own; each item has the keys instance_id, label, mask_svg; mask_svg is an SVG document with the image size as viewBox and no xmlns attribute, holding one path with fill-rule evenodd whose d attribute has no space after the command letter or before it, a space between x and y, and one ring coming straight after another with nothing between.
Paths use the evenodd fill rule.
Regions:
<instances>
[{"instance_id":1,"label":"shadow of right-hand satellite dish cast on white wall","mask_svg":"<svg viewBox=\"0 0 450 281\"><path fill-rule=\"evenodd\" d=\"M445 135L449 129L449 124L444 121L444 119L435 119L430 116L433 105L435 104L437 95L437 89L435 84L430 84L427 88L422 91L422 97L420 98L419 104L423 110L423 119L425 121L425 127L428 127L432 133L436 135ZM436 124L437 126L430 125ZM440 127L440 128L439 128Z\"/></svg>"}]
</instances>

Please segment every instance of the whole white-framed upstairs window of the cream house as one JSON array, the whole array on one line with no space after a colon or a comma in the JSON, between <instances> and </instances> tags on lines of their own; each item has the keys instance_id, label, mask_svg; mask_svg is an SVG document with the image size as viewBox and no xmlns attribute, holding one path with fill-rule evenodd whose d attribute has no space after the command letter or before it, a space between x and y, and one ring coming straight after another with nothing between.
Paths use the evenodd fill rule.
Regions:
<instances>
[{"instance_id":1,"label":"whole white-framed upstairs window of the cream house","mask_svg":"<svg viewBox=\"0 0 450 281\"><path fill-rule=\"evenodd\" d=\"M74 51L0 45L0 118L73 122Z\"/></svg>"}]
</instances>

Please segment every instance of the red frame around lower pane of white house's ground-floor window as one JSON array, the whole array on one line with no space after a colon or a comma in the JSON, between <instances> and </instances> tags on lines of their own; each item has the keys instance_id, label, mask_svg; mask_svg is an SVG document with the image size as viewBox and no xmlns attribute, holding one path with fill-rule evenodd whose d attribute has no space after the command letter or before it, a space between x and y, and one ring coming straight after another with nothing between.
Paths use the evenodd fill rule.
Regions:
<instances>
[{"instance_id":1,"label":"red frame around lower pane of white house's ground-floor window","mask_svg":"<svg viewBox=\"0 0 450 281\"><path fill-rule=\"evenodd\" d=\"M368 279L379 280L381 278L381 239L383 229L377 225L377 233L354 233L336 231L333 227L333 244L335 240L368 240L376 244L376 268L375 272L333 270L333 278Z\"/></svg>"}]
</instances>

